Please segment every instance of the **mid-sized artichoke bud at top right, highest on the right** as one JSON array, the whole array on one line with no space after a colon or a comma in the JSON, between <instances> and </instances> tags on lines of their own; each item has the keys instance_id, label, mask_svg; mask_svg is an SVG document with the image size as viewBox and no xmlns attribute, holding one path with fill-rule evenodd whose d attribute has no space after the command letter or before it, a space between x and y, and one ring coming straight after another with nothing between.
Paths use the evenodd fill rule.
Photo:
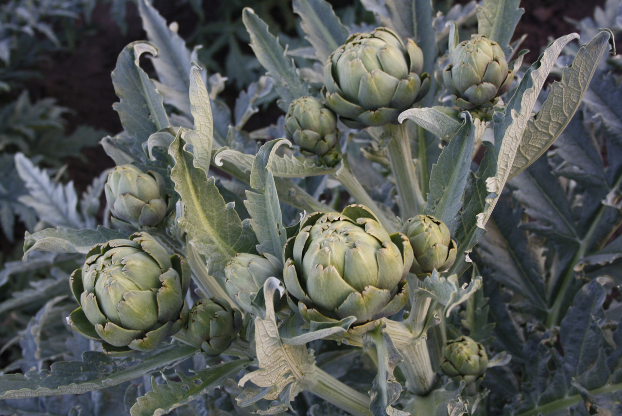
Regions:
<instances>
[{"instance_id":1,"label":"mid-sized artichoke bud at top right, highest on the right","mask_svg":"<svg viewBox=\"0 0 622 416\"><path fill-rule=\"evenodd\" d=\"M463 110L491 108L499 95L508 92L513 78L499 44L484 35L458 44L443 70L452 102Z\"/></svg>"}]
</instances>

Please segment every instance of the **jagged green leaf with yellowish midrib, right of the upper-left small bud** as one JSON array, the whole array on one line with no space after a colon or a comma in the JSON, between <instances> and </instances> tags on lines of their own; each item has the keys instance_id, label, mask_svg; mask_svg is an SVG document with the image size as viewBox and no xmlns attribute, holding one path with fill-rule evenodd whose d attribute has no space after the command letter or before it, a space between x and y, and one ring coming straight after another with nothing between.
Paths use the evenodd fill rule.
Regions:
<instances>
[{"instance_id":1,"label":"jagged green leaf with yellowish midrib, right of the upper-left small bud","mask_svg":"<svg viewBox=\"0 0 622 416\"><path fill-rule=\"evenodd\" d=\"M239 219L233 206L225 204L218 193L215 178L208 178L203 169L195 168L192 153L184 147L179 134L169 147L169 154L175 159L170 177L185 204L179 226L188 233L192 245L207 258L208 273L221 278L231 257L236 253L249 252L256 239L249 225Z\"/></svg>"}]
</instances>

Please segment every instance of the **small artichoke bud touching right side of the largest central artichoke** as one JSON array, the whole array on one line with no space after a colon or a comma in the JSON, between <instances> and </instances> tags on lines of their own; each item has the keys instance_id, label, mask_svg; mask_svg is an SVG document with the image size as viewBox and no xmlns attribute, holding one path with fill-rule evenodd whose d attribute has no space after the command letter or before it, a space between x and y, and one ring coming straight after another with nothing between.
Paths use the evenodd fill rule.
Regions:
<instances>
[{"instance_id":1,"label":"small artichoke bud touching right side of the largest central artichoke","mask_svg":"<svg viewBox=\"0 0 622 416\"><path fill-rule=\"evenodd\" d=\"M449 229L432 215L417 215L406 220L402 232L411 242L414 260L411 273L424 275L445 272L456 261L458 251Z\"/></svg>"}]
</instances>

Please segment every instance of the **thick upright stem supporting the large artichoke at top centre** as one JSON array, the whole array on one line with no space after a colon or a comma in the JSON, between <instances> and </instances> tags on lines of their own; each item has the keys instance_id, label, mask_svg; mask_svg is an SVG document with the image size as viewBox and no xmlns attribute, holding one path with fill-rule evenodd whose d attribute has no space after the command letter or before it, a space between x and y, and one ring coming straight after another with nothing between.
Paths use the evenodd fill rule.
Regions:
<instances>
[{"instance_id":1,"label":"thick upright stem supporting the large artichoke at top centre","mask_svg":"<svg viewBox=\"0 0 622 416\"><path fill-rule=\"evenodd\" d=\"M402 218L419 215L425 199L419 187L415 164L412 160L411 140L406 123L401 125L386 125L392 138L387 145L391 172L395 177L397 187L397 205Z\"/></svg>"}]
</instances>

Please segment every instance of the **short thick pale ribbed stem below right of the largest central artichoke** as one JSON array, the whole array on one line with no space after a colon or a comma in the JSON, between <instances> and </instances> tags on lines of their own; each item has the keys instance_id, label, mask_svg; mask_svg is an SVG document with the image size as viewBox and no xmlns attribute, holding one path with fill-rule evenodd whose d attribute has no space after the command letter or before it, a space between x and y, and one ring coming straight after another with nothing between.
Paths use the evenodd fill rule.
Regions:
<instances>
[{"instance_id":1,"label":"short thick pale ribbed stem below right of the largest central artichoke","mask_svg":"<svg viewBox=\"0 0 622 416\"><path fill-rule=\"evenodd\" d=\"M435 372L432 369L425 338L414 336L402 322L389 319L385 322L387 324L385 331L404 357L404 362L399 364L399 368L406 377L407 389L418 395L428 394L434 386Z\"/></svg>"}]
</instances>

